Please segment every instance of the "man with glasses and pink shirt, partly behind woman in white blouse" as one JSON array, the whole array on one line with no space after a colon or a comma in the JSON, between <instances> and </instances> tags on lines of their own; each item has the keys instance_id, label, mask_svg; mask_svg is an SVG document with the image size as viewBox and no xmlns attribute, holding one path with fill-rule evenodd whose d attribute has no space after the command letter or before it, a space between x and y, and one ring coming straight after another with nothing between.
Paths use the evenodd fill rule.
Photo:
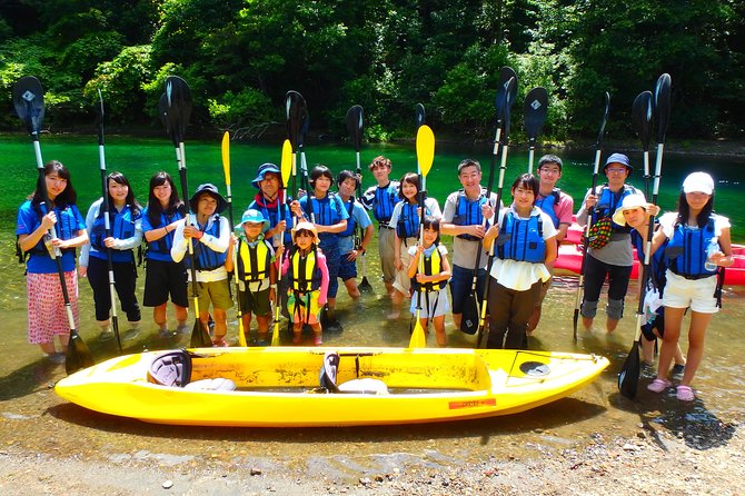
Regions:
<instances>
[{"instance_id":1,"label":"man with glasses and pink shirt, partly behind woman in white blouse","mask_svg":"<svg viewBox=\"0 0 745 496\"><path fill-rule=\"evenodd\" d=\"M574 212L574 199L558 189L556 182L562 178L562 159L555 155L544 155L538 161L538 181L539 190L536 198L536 207L542 209L552 218L554 227L557 229L556 242L560 244L566 238L566 231L572 225L572 215ZM554 262L547 265L548 270L554 272ZM538 327L540 321L540 309L550 287L552 276L540 288L540 296L536 301L535 310L528 319L527 335Z\"/></svg>"}]
</instances>

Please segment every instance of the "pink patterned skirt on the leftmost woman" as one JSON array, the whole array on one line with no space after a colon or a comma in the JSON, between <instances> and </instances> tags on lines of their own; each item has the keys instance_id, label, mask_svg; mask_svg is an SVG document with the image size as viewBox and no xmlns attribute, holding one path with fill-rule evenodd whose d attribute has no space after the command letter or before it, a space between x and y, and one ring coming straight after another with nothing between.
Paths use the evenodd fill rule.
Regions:
<instances>
[{"instance_id":1,"label":"pink patterned skirt on the leftmost woman","mask_svg":"<svg viewBox=\"0 0 745 496\"><path fill-rule=\"evenodd\" d=\"M70 296L74 327L78 328L78 272L64 272L64 281ZM70 334L70 323L64 310L64 298L58 274L27 274L29 343L39 345L52 343L54 336Z\"/></svg>"}]
</instances>

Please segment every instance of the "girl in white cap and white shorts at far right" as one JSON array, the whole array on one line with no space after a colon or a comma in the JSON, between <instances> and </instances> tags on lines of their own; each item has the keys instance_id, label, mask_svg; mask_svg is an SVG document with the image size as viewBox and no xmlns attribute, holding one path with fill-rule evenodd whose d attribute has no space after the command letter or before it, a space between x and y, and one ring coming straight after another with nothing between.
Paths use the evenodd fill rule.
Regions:
<instances>
[{"instance_id":1,"label":"girl in white cap and white shorts at far right","mask_svg":"<svg viewBox=\"0 0 745 496\"><path fill-rule=\"evenodd\" d=\"M662 393L673 383L667 378L681 337L683 316L691 307L688 353L676 396L693 401L691 387L704 357L704 337L714 314L722 306L723 274L732 267L729 219L714 212L714 179L706 172L693 172L683 181L678 211L659 218L660 229L653 239L653 249L667 240L667 286L663 295L665 335L659 348L657 377L647 388Z\"/></svg>"}]
</instances>

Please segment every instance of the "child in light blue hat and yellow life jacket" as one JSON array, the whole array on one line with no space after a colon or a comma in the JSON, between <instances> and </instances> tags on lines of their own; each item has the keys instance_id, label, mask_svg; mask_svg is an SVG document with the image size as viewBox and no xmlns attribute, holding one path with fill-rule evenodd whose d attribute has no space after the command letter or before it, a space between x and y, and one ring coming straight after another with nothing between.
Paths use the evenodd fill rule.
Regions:
<instances>
[{"instance_id":1,"label":"child in light blue hat and yellow life jacket","mask_svg":"<svg viewBox=\"0 0 745 496\"><path fill-rule=\"evenodd\" d=\"M247 338L250 337L251 314L256 315L259 327L257 344L267 346L271 302L276 300L277 292L275 249L265 238L269 219L258 210L248 209L236 230L241 231L236 239L235 269L244 333Z\"/></svg>"}]
</instances>

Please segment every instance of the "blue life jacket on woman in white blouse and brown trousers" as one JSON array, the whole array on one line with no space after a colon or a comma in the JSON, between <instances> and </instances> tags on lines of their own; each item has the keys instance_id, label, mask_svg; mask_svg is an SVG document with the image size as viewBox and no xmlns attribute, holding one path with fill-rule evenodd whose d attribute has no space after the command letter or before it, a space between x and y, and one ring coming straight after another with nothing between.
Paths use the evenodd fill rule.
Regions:
<instances>
[{"instance_id":1,"label":"blue life jacket on woman in white blouse and brown trousers","mask_svg":"<svg viewBox=\"0 0 745 496\"><path fill-rule=\"evenodd\" d=\"M497 254L503 260L543 262L546 259L546 241L540 214L525 220L508 210L501 219Z\"/></svg>"}]
</instances>

